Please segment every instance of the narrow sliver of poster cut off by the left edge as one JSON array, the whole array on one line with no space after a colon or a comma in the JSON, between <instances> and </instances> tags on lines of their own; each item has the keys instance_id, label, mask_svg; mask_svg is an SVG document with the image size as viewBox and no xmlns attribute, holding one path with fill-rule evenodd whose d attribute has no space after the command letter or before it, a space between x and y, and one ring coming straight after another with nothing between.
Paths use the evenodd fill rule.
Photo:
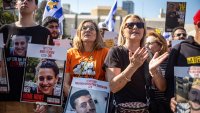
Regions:
<instances>
[{"instance_id":1,"label":"narrow sliver of poster cut off by the left edge","mask_svg":"<svg viewBox=\"0 0 200 113\"><path fill-rule=\"evenodd\" d=\"M10 87L5 61L3 34L0 33L0 93L8 93L9 90Z\"/></svg>"}]
</instances>

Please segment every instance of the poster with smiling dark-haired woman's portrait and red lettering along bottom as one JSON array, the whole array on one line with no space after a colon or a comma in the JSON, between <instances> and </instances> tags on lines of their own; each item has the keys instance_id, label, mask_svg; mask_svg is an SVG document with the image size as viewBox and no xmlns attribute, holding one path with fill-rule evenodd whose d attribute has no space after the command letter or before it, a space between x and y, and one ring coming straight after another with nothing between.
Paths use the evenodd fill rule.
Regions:
<instances>
[{"instance_id":1,"label":"poster with smiling dark-haired woman's portrait and red lettering along bottom","mask_svg":"<svg viewBox=\"0 0 200 113\"><path fill-rule=\"evenodd\" d=\"M28 44L21 102L62 105L65 47Z\"/></svg>"}]
</instances>

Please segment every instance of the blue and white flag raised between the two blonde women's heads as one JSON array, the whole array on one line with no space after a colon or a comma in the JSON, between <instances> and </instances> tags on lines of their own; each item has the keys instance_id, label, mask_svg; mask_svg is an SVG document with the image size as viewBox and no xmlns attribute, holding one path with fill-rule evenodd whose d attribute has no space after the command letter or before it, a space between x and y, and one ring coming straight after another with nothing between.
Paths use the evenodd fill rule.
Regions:
<instances>
[{"instance_id":1,"label":"blue and white flag raised between the two blonde women's heads","mask_svg":"<svg viewBox=\"0 0 200 113\"><path fill-rule=\"evenodd\" d=\"M117 0L115 0L106 20L104 21L107 24L109 31L114 31L114 28L115 28L115 17L114 16L115 16L116 12L117 12Z\"/></svg>"}]
</instances>

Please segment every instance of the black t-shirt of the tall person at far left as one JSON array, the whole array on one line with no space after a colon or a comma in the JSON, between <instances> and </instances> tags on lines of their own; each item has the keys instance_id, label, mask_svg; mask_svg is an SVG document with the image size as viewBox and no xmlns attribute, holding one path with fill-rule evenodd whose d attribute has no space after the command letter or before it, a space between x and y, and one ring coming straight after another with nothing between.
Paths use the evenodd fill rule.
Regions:
<instances>
[{"instance_id":1,"label":"black t-shirt of the tall person at far left","mask_svg":"<svg viewBox=\"0 0 200 113\"><path fill-rule=\"evenodd\" d=\"M12 36L30 36L30 42L35 44L47 44L48 29L37 25L33 27L17 27L15 24L4 25L0 28L3 33L5 46L5 56L8 69L8 78L10 84L10 92L8 94L0 94L0 100L19 101L21 95L24 66L26 64L26 56L13 56L10 49ZM34 54L34 53L33 53Z\"/></svg>"}]
</instances>

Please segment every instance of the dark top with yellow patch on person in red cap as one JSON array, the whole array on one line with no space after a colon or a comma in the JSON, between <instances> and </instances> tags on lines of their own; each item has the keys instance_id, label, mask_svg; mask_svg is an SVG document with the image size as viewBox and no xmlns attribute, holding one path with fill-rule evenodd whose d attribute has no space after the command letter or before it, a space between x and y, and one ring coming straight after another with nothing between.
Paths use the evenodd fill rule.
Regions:
<instances>
[{"instance_id":1,"label":"dark top with yellow patch on person in red cap","mask_svg":"<svg viewBox=\"0 0 200 113\"><path fill-rule=\"evenodd\" d=\"M166 96L168 99L174 97L174 66L200 66L200 45L193 37L174 46L171 50L165 78L167 81Z\"/></svg>"}]
</instances>

